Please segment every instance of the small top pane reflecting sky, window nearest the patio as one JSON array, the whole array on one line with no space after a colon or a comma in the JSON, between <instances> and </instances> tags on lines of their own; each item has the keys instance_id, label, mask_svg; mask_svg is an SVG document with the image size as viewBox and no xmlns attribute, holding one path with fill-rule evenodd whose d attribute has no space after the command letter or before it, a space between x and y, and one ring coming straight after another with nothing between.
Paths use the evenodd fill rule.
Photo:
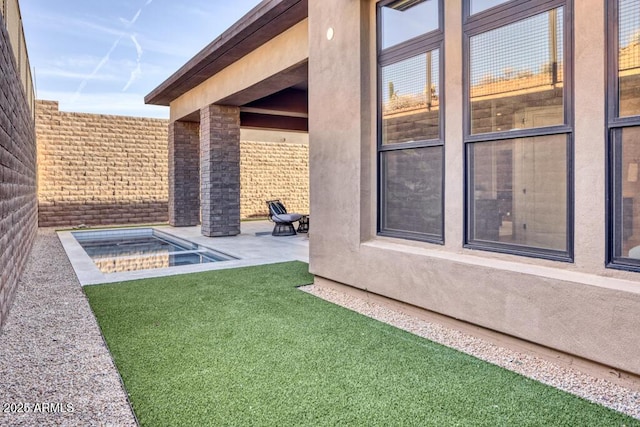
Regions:
<instances>
[{"instance_id":1,"label":"small top pane reflecting sky, window nearest the patio","mask_svg":"<svg viewBox=\"0 0 640 427\"><path fill-rule=\"evenodd\" d=\"M382 49L439 27L438 0L401 0L382 7Z\"/></svg>"}]
</instances>

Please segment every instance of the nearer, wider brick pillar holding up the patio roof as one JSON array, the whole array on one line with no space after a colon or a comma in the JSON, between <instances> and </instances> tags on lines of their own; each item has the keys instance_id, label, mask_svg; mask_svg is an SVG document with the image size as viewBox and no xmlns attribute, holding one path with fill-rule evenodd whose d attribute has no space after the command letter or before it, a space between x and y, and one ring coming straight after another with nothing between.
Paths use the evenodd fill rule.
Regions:
<instances>
[{"instance_id":1,"label":"nearer, wider brick pillar holding up the patio roof","mask_svg":"<svg viewBox=\"0 0 640 427\"><path fill-rule=\"evenodd\" d=\"M240 109L200 110L202 234L240 234Z\"/></svg>"}]
</instances>

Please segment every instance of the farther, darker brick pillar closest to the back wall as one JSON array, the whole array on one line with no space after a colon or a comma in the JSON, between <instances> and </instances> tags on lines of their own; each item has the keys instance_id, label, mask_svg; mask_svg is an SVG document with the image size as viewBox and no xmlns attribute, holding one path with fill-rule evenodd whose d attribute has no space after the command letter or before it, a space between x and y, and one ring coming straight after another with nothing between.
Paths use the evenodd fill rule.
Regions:
<instances>
[{"instance_id":1,"label":"farther, darker brick pillar closest to the back wall","mask_svg":"<svg viewBox=\"0 0 640 427\"><path fill-rule=\"evenodd\" d=\"M169 224L200 223L200 128L198 123L169 124Z\"/></svg>"}]
</instances>

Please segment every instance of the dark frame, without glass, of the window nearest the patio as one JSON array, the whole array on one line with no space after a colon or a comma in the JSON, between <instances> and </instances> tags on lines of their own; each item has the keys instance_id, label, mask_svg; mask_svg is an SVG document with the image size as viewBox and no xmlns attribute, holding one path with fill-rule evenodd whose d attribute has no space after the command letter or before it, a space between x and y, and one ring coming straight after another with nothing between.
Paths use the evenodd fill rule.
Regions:
<instances>
[{"instance_id":1,"label":"dark frame, without glass, of the window nearest the patio","mask_svg":"<svg viewBox=\"0 0 640 427\"><path fill-rule=\"evenodd\" d=\"M385 6L392 5L393 3L397 3L399 0L383 0L377 3L376 5L376 54L377 54L377 96L376 96L376 122L377 122L377 235L386 236L386 237L396 237L407 240L417 240L423 241L427 243L435 243L435 244L444 244L444 199L445 199L445 184L444 184L444 176L445 176L445 144L444 144L444 109L445 109L445 91L444 91L444 0L431 0L438 2L438 28L432 31L429 31L425 34L422 34L417 37L413 37L409 40L406 40L402 43L396 44L394 46L390 46L386 49L382 49L382 8ZM438 116L438 126L439 126L439 137L437 139L427 139L420 141L411 141L411 142L402 142L402 143L393 143L386 144L382 143L383 134L382 134L382 69L385 66L392 65L403 60L412 58L414 56L427 53L433 50L438 50L439 52L439 64L438 64L438 82L439 82L439 116ZM441 233L439 235L432 233L418 233L411 231L399 231L399 230L388 230L383 228L384 224L384 206L385 206L385 194L383 191L384 188L384 174L382 170L382 157L384 153L395 150L407 150L407 149L421 149L421 148L431 148L431 147L441 147L442 150L442 184L441 184L441 200L440 200L440 210L442 212L441 215L441 224L440 230Z\"/></svg>"}]
</instances>

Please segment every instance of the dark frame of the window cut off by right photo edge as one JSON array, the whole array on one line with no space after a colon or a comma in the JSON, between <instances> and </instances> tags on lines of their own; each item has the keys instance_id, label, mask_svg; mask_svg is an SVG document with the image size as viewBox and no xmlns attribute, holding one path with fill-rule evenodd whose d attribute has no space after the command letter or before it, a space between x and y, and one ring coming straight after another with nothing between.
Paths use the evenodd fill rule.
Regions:
<instances>
[{"instance_id":1,"label":"dark frame of the window cut off by right photo edge","mask_svg":"<svg viewBox=\"0 0 640 427\"><path fill-rule=\"evenodd\" d=\"M618 254L623 238L622 228L622 132L625 128L640 127L640 113L620 117L619 98L619 0L607 2L607 94L606 106L606 261L607 268L640 272L640 259L623 257ZM618 173L620 172L620 173Z\"/></svg>"}]
</instances>

